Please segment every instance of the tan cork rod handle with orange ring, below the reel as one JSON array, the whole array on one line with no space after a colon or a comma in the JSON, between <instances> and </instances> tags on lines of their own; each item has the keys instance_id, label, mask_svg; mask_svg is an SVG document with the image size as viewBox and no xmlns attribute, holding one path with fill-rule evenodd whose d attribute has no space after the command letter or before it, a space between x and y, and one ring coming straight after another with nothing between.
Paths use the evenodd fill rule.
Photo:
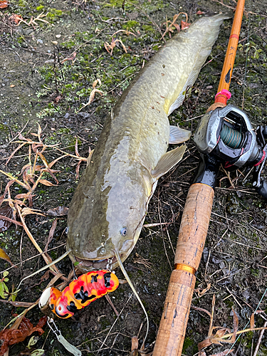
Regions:
<instances>
[{"instance_id":1,"label":"tan cork rod handle with orange ring, below the reel","mask_svg":"<svg viewBox=\"0 0 267 356\"><path fill-rule=\"evenodd\" d=\"M196 277L209 228L214 189L203 183L189 188L153 356L180 356Z\"/></svg>"}]
</instances>

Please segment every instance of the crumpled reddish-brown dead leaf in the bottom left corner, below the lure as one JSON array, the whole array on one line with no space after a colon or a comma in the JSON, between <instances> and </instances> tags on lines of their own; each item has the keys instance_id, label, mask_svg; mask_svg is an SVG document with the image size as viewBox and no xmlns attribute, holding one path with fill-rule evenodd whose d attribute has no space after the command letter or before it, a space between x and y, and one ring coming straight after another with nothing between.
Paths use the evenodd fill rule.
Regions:
<instances>
[{"instance_id":1,"label":"crumpled reddish-brown dead leaf in the bottom left corner, below the lure","mask_svg":"<svg viewBox=\"0 0 267 356\"><path fill-rule=\"evenodd\" d=\"M16 316L16 315L15 315ZM43 326L46 325L47 317L43 316L38 324L33 327L32 323L28 318L23 318L19 325L19 329L5 329L0 332L0 340L2 340L2 345L0 349L0 356L4 355L4 353L9 349L10 345L17 344L26 339L27 336L31 335L35 331L42 335L44 333Z\"/></svg>"}]
</instances>

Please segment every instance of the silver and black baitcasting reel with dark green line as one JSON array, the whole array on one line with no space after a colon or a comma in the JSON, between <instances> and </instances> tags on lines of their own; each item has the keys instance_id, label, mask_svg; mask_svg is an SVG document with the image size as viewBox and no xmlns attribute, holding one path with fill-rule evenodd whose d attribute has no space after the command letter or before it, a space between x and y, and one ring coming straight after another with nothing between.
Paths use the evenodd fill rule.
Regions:
<instances>
[{"instance_id":1,"label":"silver and black baitcasting reel with dark green line","mask_svg":"<svg viewBox=\"0 0 267 356\"><path fill-rule=\"evenodd\" d=\"M267 199L267 182L261 180L266 161L267 126L253 129L246 113L234 105L206 112L199 122L194 142L203 162L195 183L215 185L219 164L233 171L254 167L253 187Z\"/></svg>"}]
</instances>

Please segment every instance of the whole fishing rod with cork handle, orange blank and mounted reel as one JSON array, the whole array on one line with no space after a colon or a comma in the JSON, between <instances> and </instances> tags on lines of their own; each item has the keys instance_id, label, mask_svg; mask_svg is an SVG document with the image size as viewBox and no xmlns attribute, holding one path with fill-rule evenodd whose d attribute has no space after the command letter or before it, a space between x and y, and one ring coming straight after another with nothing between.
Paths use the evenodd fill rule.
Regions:
<instances>
[{"instance_id":1,"label":"whole fishing rod with cork handle, orange blank and mounted reel","mask_svg":"<svg viewBox=\"0 0 267 356\"><path fill-rule=\"evenodd\" d=\"M195 273L204 249L220 164L229 171L245 165L254 167L253 187L267 198L267 182L261 180L261 171L266 160L267 126L257 127L255 132L245 112L234 105L226 105L227 100L231 98L229 85L244 4L245 0L239 0L236 6L215 102L202 117L194 135L202 161L184 206L174 257L174 271L169 281L153 356L182 354L196 282Z\"/></svg>"}]
</instances>

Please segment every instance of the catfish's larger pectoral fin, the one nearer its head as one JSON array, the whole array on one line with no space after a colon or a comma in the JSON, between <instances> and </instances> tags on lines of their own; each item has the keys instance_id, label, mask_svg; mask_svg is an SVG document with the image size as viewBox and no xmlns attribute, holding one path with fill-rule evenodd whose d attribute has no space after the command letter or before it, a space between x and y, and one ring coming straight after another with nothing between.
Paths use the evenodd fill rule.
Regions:
<instances>
[{"instance_id":1,"label":"catfish's larger pectoral fin, the one nearer its head","mask_svg":"<svg viewBox=\"0 0 267 356\"><path fill-rule=\"evenodd\" d=\"M175 150L164 153L159 162L157 162L155 169L151 171L152 177L159 179L163 174L169 172L169 169L172 169L182 159L186 149L187 146L182 145L175 148Z\"/></svg>"}]
</instances>

